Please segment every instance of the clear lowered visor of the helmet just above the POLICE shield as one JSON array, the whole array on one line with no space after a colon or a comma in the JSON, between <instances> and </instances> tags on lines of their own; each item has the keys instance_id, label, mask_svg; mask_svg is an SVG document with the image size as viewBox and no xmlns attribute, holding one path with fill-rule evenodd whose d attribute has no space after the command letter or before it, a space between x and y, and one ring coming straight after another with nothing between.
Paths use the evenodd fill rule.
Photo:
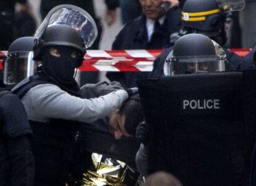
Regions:
<instances>
[{"instance_id":1,"label":"clear lowered visor of the helmet just above the POLICE shield","mask_svg":"<svg viewBox=\"0 0 256 186\"><path fill-rule=\"evenodd\" d=\"M168 75L220 72L224 71L223 63L218 56L172 57L168 62Z\"/></svg>"}]
</instances>

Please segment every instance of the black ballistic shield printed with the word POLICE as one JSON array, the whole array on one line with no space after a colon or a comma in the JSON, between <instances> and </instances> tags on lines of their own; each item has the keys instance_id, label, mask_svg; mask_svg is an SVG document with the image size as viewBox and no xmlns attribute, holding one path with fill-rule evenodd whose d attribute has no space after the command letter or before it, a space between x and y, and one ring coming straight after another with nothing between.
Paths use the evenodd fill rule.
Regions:
<instances>
[{"instance_id":1,"label":"black ballistic shield printed with the word POLICE","mask_svg":"<svg viewBox=\"0 0 256 186\"><path fill-rule=\"evenodd\" d=\"M249 185L256 137L256 72L215 72L139 80L153 129L149 172L184 185Z\"/></svg>"}]
</instances>

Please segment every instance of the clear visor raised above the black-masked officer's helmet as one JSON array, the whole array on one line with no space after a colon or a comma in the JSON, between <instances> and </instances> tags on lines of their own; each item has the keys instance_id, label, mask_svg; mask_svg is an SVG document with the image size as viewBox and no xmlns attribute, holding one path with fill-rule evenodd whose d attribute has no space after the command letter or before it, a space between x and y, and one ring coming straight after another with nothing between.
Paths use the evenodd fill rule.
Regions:
<instances>
[{"instance_id":1,"label":"clear visor raised above the black-masked officer's helmet","mask_svg":"<svg viewBox=\"0 0 256 186\"><path fill-rule=\"evenodd\" d=\"M40 38L47 27L51 25L68 25L75 30L79 30L83 38L85 48L92 46L98 35L96 23L86 11L77 6L62 4L54 7L41 23L35 36Z\"/></svg>"}]
</instances>

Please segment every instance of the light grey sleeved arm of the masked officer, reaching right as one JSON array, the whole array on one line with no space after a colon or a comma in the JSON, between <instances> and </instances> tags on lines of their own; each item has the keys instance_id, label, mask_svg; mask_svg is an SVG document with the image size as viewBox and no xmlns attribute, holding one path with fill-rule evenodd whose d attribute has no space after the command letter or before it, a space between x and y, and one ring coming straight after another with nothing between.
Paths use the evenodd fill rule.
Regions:
<instances>
[{"instance_id":1,"label":"light grey sleeved arm of the masked officer, reaching right","mask_svg":"<svg viewBox=\"0 0 256 186\"><path fill-rule=\"evenodd\" d=\"M44 121L55 118L93 122L108 116L127 98L126 90L118 90L99 98L82 99L69 95L55 85L44 84L28 91L22 102L30 120Z\"/></svg>"}]
</instances>

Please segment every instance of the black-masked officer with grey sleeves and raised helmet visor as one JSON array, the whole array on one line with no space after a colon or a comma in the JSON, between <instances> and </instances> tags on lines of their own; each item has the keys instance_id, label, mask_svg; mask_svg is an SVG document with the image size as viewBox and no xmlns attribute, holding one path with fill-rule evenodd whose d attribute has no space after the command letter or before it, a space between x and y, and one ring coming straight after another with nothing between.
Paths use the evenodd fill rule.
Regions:
<instances>
[{"instance_id":1,"label":"black-masked officer with grey sleeves and raised helmet visor","mask_svg":"<svg viewBox=\"0 0 256 186\"><path fill-rule=\"evenodd\" d=\"M117 90L95 99L80 98L75 69L97 35L92 17L79 7L62 5L46 16L36 36L34 59L41 70L15 86L32 126L35 185L64 185L70 167L67 144L79 122L108 116L133 90Z\"/></svg>"}]
</instances>

